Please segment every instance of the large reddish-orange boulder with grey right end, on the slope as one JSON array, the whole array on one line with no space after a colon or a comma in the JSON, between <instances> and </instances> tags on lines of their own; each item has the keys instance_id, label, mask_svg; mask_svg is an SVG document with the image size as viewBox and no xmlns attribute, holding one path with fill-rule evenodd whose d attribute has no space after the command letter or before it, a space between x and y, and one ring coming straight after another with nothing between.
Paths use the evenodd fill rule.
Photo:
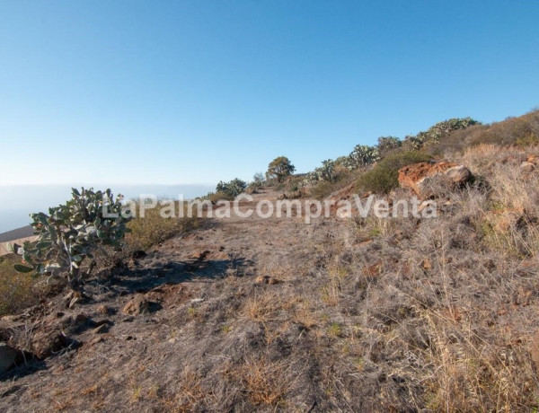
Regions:
<instances>
[{"instance_id":1,"label":"large reddish-orange boulder with grey right end, on the slope","mask_svg":"<svg viewBox=\"0 0 539 413\"><path fill-rule=\"evenodd\" d=\"M454 187L463 185L472 178L472 172L463 165L446 161L438 163L414 163L399 170L399 184L413 189L420 198L435 194L429 189L436 180L443 180Z\"/></svg>"}]
</instances>

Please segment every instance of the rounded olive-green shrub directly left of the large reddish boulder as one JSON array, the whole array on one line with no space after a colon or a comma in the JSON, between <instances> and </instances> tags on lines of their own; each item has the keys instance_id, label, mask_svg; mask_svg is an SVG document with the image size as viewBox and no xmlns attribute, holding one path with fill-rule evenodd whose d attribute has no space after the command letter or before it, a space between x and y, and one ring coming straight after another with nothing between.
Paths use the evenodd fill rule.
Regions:
<instances>
[{"instance_id":1,"label":"rounded olive-green shrub directly left of the large reddish boulder","mask_svg":"<svg viewBox=\"0 0 539 413\"><path fill-rule=\"evenodd\" d=\"M388 193L399 186L399 170L412 163L427 162L432 156L419 151L386 156L358 179L357 188L376 193Z\"/></svg>"}]
</instances>

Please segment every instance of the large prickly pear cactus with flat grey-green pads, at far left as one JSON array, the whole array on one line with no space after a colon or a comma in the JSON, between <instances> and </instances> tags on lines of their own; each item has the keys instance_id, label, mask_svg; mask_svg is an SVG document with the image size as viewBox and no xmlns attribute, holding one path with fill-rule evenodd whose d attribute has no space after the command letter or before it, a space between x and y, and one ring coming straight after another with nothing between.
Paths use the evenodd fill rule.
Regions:
<instances>
[{"instance_id":1,"label":"large prickly pear cactus with flat grey-green pads, at far left","mask_svg":"<svg viewBox=\"0 0 539 413\"><path fill-rule=\"evenodd\" d=\"M119 247L129 230L130 217L122 214L121 199L110 189L72 189L73 198L49 208L49 215L31 214L34 234L38 240L24 242L16 250L26 265L16 265L19 272L34 272L37 276L64 276L76 289L80 281L80 268L85 259L94 264L94 253L102 245ZM128 213L128 211L127 211ZM126 214L128 215L128 214Z\"/></svg>"}]
</instances>

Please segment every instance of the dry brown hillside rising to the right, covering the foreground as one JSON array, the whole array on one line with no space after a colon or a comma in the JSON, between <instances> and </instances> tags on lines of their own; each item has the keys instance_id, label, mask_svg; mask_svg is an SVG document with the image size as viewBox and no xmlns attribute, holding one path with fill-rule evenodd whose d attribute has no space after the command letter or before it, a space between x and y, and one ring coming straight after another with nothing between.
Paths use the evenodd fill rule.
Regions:
<instances>
[{"instance_id":1,"label":"dry brown hillside rising to the right, covering the foreground","mask_svg":"<svg viewBox=\"0 0 539 413\"><path fill-rule=\"evenodd\" d=\"M26 350L0 409L539 409L538 119L411 136L334 180L291 177L240 204L409 200L369 185L420 151L473 176L429 188L437 217L206 217L103 259L85 296L51 287L0 321Z\"/></svg>"}]
</instances>

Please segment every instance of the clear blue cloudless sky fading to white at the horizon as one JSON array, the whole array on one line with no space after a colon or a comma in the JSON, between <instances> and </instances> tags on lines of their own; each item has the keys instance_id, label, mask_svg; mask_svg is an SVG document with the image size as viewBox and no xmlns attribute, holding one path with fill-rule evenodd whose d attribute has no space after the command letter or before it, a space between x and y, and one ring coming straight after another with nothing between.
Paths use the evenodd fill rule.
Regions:
<instances>
[{"instance_id":1,"label":"clear blue cloudless sky fading to white at the horizon","mask_svg":"<svg viewBox=\"0 0 539 413\"><path fill-rule=\"evenodd\" d=\"M0 0L0 184L297 171L539 105L539 2Z\"/></svg>"}]
</instances>

